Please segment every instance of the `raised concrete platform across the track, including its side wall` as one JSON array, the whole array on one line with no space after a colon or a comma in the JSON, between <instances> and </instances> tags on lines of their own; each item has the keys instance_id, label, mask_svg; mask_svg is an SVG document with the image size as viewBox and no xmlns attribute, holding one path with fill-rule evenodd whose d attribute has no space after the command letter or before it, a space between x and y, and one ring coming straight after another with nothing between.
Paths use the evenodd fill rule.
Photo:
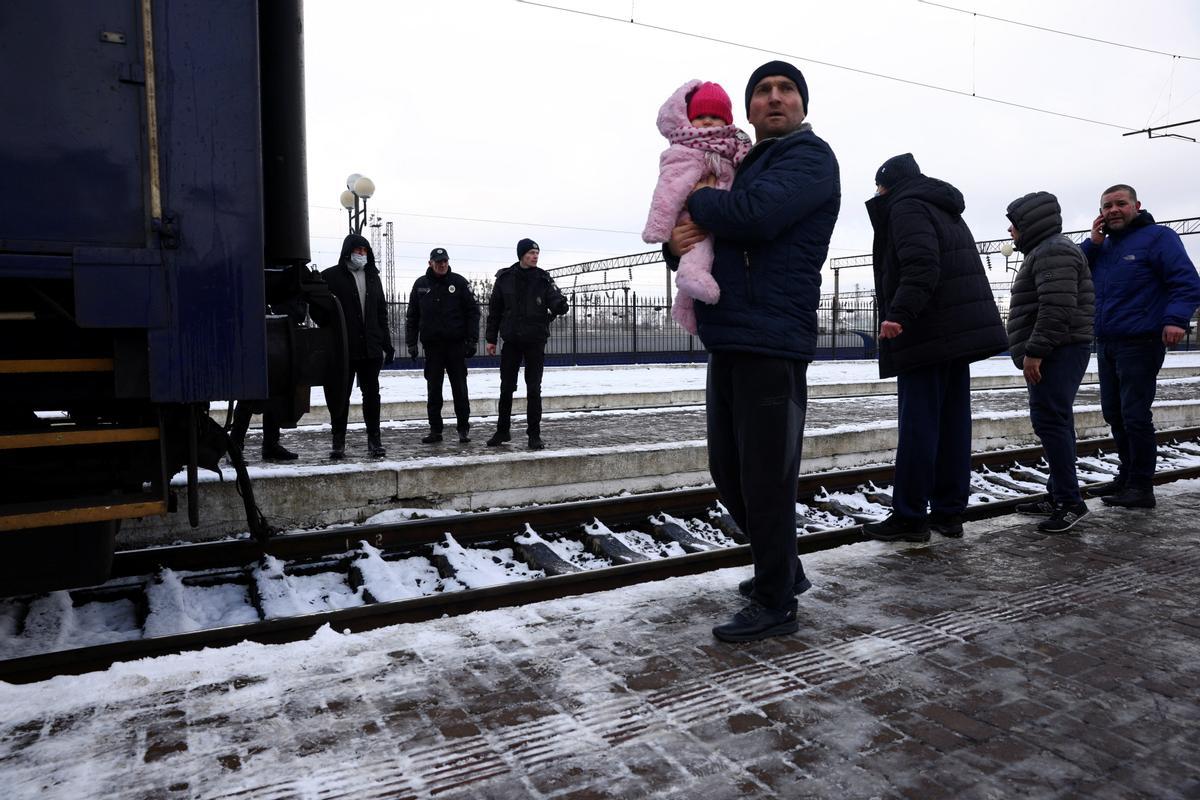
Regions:
<instances>
[{"instance_id":1,"label":"raised concrete platform across the track, including its side wall","mask_svg":"<svg viewBox=\"0 0 1200 800\"><path fill-rule=\"evenodd\" d=\"M1160 428L1200 426L1198 383L1164 383L1154 408ZM1027 395L1021 390L979 391L973 447L976 451L1037 444L1028 421ZM809 403L802 469L808 473L894 458L895 398L892 396L814 398ZM559 413L542 422L547 449L524 450L523 420L516 419L512 445L492 449L484 440L494 421L476 420L473 441L460 445L452 435L438 445L422 445L424 422L394 422L384 428L385 459L364 459L366 438L352 427L347 462L331 462L328 427L283 434L299 451L295 464L254 464L251 474L259 507L283 529L361 522L396 507L478 510L529 503L556 503L620 492L655 492L707 485L708 451L701 405L642 411ZM1109 434L1099 411L1098 389L1081 389L1076 401L1079 437ZM247 438L253 459L256 433ZM161 518L130 521L119 535L121 547L173 541L199 541L246 530L241 498L226 469L223 482L202 474L200 527L187 524L186 497L180 512ZM176 477L181 485L181 477Z\"/></svg>"}]
</instances>

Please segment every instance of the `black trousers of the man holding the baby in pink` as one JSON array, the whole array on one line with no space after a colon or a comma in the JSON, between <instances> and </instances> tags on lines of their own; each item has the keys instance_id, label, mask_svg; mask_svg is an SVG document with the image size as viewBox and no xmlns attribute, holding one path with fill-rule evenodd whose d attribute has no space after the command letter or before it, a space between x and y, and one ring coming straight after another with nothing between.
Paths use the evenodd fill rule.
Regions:
<instances>
[{"instance_id":1,"label":"black trousers of the man holding the baby in pink","mask_svg":"<svg viewBox=\"0 0 1200 800\"><path fill-rule=\"evenodd\" d=\"M752 599L796 608L796 487L808 409L808 361L752 353L708 356L708 468L754 554Z\"/></svg>"}]
</instances>

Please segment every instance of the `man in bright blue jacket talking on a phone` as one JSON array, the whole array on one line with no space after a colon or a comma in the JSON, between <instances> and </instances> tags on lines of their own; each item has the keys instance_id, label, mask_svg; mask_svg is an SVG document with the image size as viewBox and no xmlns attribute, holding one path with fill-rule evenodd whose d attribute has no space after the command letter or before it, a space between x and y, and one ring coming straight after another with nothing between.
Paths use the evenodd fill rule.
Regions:
<instances>
[{"instance_id":1,"label":"man in bright blue jacket talking on a phone","mask_svg":"<svg viewBox=\"0 0 1200 800\"><path fill-rule=\"evenodd\" d=\"M1126 184L1104 190L1081 247L1096 284L1100 409L1121 458L1112 486L1092 494L1110 506L1152 509L1158 445L1150 407L1166 348L1183 339L1200 306L1200 276L1180 235L1154 224Z\"/></svg>"}]
</instances>

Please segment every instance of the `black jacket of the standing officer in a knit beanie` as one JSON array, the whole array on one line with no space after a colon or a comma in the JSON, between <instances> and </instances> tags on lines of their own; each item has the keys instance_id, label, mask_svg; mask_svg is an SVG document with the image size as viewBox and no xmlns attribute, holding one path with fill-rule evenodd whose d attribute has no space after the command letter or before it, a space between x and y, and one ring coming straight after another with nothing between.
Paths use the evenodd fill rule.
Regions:
<instances>
[{"instance_id":1,"label":"black jacket of the standing officer in a knit beanie","mask_svg":"<svg viewBox=\"0 0 1200 800\"><path fill-rule=\"evenodd\" d=\"M520 261L496 273L492 299L487 303L488 344L497 335L505 342L545 342L550 320L570 307L546 270L523 267Z\"/></svg>"}]
</instances>

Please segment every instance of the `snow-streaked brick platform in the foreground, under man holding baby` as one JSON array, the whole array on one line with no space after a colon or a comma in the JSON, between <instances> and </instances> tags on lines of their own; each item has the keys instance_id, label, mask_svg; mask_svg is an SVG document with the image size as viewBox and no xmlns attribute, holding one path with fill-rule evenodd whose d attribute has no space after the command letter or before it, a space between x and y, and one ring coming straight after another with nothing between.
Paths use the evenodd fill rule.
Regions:
<instances>
[{"instance_id":1,"label":"snow-streaked brick platform in the foreground, under man holding baby","mask_svg":"<svg viewBox=\"0 0 1200 800\"><path fill-rule=\"evenodd\" d=\"M7 798L1200 796L1200 482L805 563L0 685ZM14 711L14 709L17 709Z\"/></svg>"}]
</instances>

